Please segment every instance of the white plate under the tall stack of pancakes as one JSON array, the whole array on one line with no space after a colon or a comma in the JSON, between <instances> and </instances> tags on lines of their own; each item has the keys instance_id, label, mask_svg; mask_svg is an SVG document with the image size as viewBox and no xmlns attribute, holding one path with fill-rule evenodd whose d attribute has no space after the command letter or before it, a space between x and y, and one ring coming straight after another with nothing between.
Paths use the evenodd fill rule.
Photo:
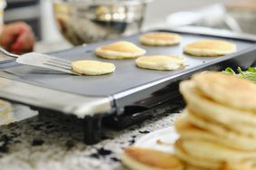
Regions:
<instances>
[{"instance_id":1,"label":"white plate under the tall stack of pancakes","mask_svg":"<svg viewBox=\"0 0 256 170\"><path fill-rule=\"evenodd\" d=\"M174 127L162 128L139 138L134 146L146 147L162 152L173 153L173 144L179 137ZM159 144L157 141L163 144Z\"/></svg>"}]
</instances>

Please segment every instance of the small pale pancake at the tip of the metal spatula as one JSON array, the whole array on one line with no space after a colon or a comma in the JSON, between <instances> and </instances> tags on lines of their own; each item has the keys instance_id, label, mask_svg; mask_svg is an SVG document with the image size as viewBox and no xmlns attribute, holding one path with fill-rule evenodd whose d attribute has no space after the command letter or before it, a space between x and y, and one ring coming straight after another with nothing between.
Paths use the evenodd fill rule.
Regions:
<instances>
[{"instance_id":1,"label":"small pale pancake at the tip of the metal spatula","mask_svg":"<svg viewBox=\"0 0 256 170\"><path fill-rule=\"evenodd\" d=\"M73 71L85 75L103 75L114 71L115 66L102 61L73 61Z\"/></svg>"}]
</instances>

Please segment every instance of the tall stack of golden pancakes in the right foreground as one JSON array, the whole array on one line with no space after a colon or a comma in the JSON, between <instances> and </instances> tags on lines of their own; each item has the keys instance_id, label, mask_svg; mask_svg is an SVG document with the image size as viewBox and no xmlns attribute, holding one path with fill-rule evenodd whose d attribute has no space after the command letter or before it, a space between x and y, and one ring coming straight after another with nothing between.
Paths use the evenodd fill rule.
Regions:
<instances>
[{"instance_id":1,"label":"tall stack of golden pancakes in the right foreground","mask_svg":"<svg viewBox=\"0 0 256 170\"><path fill-rule=\"evenodd\" d=\"M182 81L175 154L191 169L256 169L256 85L222 72Z\"/></svg>"}]
</instances>

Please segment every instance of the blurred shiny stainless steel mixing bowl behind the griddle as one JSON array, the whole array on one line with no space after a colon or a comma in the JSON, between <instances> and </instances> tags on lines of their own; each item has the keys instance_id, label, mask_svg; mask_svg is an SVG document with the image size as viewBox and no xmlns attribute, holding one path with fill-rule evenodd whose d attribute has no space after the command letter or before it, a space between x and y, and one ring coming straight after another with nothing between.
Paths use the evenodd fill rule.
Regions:
<instances>
[{"instance_id":1,"label":"blurred shiny stainless steel mixing bowl behind the griddle","mask_svg":"<svg viewBox=\"0 0 256 170\"><path fill-rule=\"evenodd\" d=\"M59 31L74 45L138 33L148 0L56 0Z\"/></svg>"}]
</instances>

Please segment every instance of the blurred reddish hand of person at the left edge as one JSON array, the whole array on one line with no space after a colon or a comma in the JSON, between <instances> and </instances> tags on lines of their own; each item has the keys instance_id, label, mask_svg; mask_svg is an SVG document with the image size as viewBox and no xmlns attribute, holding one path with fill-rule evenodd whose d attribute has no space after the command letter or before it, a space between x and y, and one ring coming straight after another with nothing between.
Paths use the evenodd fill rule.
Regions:
<instances>
[{"instance_id":1,"label":"blurred reddish hand of person at the left edge","mask_svg":"<svg viewBox=\"0 0 256 170\"><path fill-rule=\"evenodd\" d=\"M5 0L0 0L0 45L9 52L32 52L34 33L25 22L4 24Z\"/></svg>"}]
</instances>

